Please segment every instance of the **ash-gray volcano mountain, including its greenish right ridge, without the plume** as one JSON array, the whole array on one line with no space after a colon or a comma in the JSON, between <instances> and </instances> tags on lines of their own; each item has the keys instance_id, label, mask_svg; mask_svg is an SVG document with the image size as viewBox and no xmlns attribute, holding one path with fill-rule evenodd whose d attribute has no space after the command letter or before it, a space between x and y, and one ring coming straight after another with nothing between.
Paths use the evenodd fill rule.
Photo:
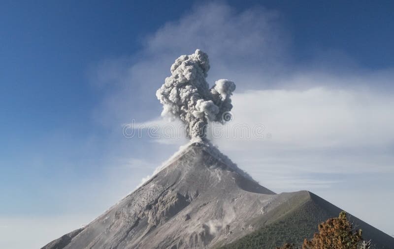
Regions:
<instances>
[{"instance_id":1,"label":"ash-gray volcano mountain, including its greenish right ridge, without the plume","mask_svg":"<svg viewBox=\"0 0 394 249\"><path fill-rule=\"evenodd\" d=\"M311 205L312 213L299 215ZM294 218L292 222L317 227L316 221L338 214L338 208L307 191L273 193L216 148L197 142L95 221L43 248L254 248L253 238L248 236L264 227L274 231L265 244L271 246L282 243L286 234L282 236L278 230L282 228L275 227L290 222L289 217ZM383 238L386 248L386 243L394 245L392 237L364 222L361 225L374 241ZM289 227L296 230L295 241L314 232L297 229L294 224Z\"/></svg>"}]
</instances>

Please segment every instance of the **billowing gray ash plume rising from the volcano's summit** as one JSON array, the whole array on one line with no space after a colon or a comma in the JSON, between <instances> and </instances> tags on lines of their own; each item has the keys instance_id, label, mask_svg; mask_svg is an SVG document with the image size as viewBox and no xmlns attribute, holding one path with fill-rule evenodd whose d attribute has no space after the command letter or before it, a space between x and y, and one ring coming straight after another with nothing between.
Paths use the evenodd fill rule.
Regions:
<instances>
[{"instance_id":1,"label":"billowing gray ash plume rising from the volcano's summit","mask_svg":"<svg viewBox=\"0 0 394 249\"><path fill-rule=\"evenodd\" d=\"M209 88L205 80L208 70L204 52L197 49L193 55L181 55L171 66L171 76L156 92L163 104L162 116L182 120L189 138L204 137L208 121L228 121L232 109L230 96L235 84L222 79Z\"/></svg>"}]
</instances>

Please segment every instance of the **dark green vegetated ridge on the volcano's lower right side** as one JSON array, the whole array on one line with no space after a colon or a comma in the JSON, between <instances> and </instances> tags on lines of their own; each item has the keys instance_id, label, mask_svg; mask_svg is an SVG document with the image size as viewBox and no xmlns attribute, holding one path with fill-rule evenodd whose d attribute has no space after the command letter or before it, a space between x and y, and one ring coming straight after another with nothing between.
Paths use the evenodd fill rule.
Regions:
<instances>
[{"instance_id":1,"label":"dark green vegetated ridge on the volcano's lower right side","mask_svg":"<svg viewBox=\"0 0 394 249\"><path fill-rule=\"evenodd\" d=\"M342 210L316 194L298 192L288 203L283 203L260 220L253 222L254 232L232 243L224 242L221 249L261 249L281 247L294 243L301 248L304 238L311 239L318 232L318 224L332 217L338 217ZM363 239L372 240L372 248L391 249L394 238L375 227L348 215L357 229L362 229ZM226 244L226 245L225 245Z\"/></svg>"}]
</instances>

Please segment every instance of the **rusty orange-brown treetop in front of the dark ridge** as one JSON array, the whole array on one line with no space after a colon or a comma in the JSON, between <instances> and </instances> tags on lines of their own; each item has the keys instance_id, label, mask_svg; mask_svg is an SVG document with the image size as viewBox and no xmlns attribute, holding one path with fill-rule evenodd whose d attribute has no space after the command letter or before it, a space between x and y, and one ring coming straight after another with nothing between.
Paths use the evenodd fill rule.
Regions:
<instances>
[{"instance_id":1,"label":"rusty orange-brown treetop in front of the dark ridge","mask_svg":"<svg viewBox=\"0 0 394 249\"><path fill-rule=\"evenodd\" d=\"M312 240L304 240L302 249L357 249L361 245L362 230L353 233L353 227L342 211L338 218L319 224L319 232Z\"/></svg>"}]
</instances>

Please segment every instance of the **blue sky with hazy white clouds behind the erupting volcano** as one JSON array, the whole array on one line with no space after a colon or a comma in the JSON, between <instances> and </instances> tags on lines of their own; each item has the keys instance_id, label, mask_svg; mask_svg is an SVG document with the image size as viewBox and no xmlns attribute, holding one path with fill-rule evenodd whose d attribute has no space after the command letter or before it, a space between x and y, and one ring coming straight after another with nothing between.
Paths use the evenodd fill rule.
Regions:
<instances>
[{"instance_id":1,"label":"blue sky with hazy white clouds behind the erupting volcano","mask_svg":"<svg viewBox=\"0 0 394 249\"><path fill-rule=\"evenodd\" d=\"M237 84L236 120L272 133L215 141L239 167L275 192L311 190L394 234L384 207L394 191L393 7L2 1L2 247L22 246L18 224L37 227L38 247L91 221L185 143L126 139L122 125L163 122L156 89L196 48L210 55L210 83Z\"/></svg>"}]
</instances>

